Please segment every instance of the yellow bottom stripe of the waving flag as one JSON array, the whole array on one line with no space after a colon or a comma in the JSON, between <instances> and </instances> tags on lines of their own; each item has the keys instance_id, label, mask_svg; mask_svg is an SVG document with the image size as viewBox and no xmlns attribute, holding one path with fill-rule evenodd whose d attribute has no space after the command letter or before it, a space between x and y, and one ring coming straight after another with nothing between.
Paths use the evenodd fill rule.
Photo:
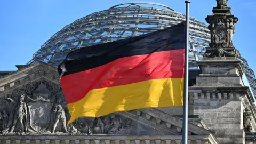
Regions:
<instances>
[{"instance_id":1,"label":"yellow bottom stripe of the waving flag","mask_svg":"<svg viewBox=\"0 0 256 144\"><path fill-rule=\"evenodd\" d=\"M148 81L94 89L86 96L68 104L71 118L100 117L115 111L183 105L183 78Z\"/></svg>"}]
</instances>

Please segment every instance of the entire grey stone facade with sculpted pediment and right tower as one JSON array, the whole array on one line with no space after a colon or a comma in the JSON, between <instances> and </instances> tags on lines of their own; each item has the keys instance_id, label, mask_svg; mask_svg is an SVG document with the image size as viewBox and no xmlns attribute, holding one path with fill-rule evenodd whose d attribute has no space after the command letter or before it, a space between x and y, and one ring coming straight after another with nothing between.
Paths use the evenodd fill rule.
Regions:
<instances>
[{"instance_id":1,"label":"entire grey stone facade with sculpted pediment and right tower","mask_svg":"<svg viewBox=\"0 0 256 144\"><path fill-rule=\"evenodd\" d=\"M189 87L188 142L256 143L254 98L232 42L238 18L222 0L206 21L211 44ZM57 68L38 62L0 78L0 143L182 142L182 107L81 117L67 125L69 118Z\"/></svg>"}]
</instances>

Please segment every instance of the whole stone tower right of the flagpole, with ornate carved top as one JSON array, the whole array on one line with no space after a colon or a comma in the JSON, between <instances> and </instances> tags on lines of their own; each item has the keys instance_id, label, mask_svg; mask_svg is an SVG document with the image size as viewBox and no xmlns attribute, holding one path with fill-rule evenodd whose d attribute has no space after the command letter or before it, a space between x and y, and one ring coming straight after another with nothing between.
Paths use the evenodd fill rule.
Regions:
<instances>
[{"instance_id":1,"label":"whole stone tower right of the flagpole, with ornate carved top","mask_svg":"<svg viewBox=\"0 0 256 144\"><path fill-rule=\"evenodd\" d=\"M252 118L253 95L244 86L244 69L233 45L238 21L228 1L217 0L212 15L207 15L210 47L198 61L202 73L189 87L194 115L199 115L220 143L245 143L245 133L255 130ZM253 115L255 117L255 115Z\"/></svg>"}]
</instances>

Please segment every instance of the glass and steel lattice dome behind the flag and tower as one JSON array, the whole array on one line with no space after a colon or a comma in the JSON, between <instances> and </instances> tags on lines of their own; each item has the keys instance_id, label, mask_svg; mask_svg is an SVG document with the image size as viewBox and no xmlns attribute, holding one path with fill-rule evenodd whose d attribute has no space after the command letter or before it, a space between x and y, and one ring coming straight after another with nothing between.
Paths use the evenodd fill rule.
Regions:
<instances>
[{"instance_id":1,"label":"glass and steel lattice dome behind the flag and tower","mask_svg":"<svg viewBox=\"0 0 256 144\"><path fill-rule=\"evenodd\" d=\"M160 7L144 6L146 4ZM183 21L185 21L185 14L178 13L163 4L152 2L118 4L108 10L89 14L65 26L50 37L26 65L43 61L57 66L70 51L75 49L147 34ZM198 69L196 61L203 58L205 47L210 43L210 33L205 23L191 17L189 21L189 69ZM244 58L241 57L240 60L243 62L247 79L256 95L254 72Z\"/></svg>"}]
</instances>

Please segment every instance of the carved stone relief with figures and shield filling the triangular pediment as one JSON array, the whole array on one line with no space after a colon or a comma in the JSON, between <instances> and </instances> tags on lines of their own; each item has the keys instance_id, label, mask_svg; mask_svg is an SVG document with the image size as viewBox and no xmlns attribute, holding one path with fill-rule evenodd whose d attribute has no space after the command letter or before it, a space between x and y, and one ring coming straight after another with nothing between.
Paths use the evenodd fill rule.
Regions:
<instances>
[{"instance_id":1,"label":"carved stone relief with figures and shield filling the triangular pediment","mask_svg":"<svg viewBox=\"0 0 256 144\"><path fill-rule=\"evenodd\" d=\"M127 133L131 127L131 119L115 114L81 117L67 126L69 118L58 84L28 83L0 97L0 132L4 135L116 134Z\"/></svg>"}]
</instances>

